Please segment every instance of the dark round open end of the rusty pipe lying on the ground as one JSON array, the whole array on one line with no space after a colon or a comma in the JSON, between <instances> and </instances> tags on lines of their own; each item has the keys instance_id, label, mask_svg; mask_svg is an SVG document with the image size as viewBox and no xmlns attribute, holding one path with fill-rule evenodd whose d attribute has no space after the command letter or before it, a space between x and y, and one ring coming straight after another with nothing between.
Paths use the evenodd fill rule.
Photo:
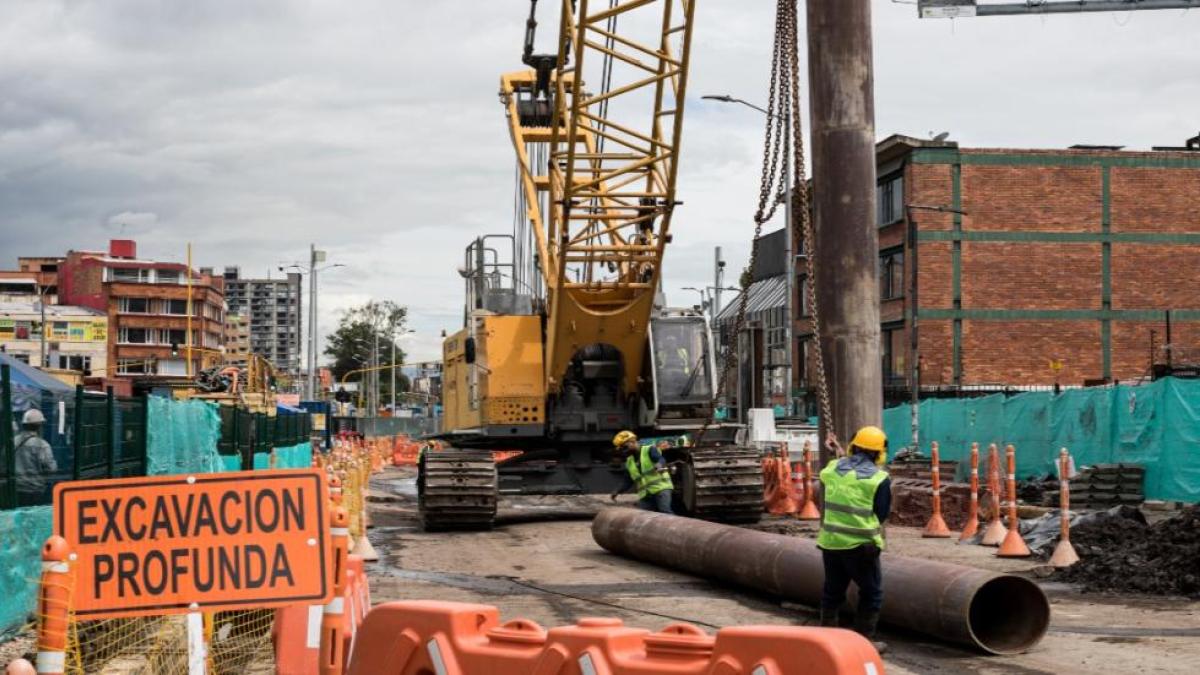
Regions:
<instances>
[{"instance_id":1,"label":"dark round open end of the rusty pipe lying on the ground","mask_svg":"<svg viewBox=\"0 0 1200 675\"><path fill-rule=\"evenodd\" d=\"M1038 644L1050 627L1050 601L1021 577L997 577L971 598L971 635L985 651L1020 653Z\"/></svg>"}]
</instances>

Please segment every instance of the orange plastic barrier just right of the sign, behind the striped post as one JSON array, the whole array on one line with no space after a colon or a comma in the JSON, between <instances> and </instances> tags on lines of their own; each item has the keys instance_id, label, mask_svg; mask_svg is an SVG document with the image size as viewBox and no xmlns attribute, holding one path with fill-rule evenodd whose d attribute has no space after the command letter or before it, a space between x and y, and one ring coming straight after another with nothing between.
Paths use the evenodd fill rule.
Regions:
<instances>
[{"instance_id":1,"label":"orange plastic barrier just right of the sign, behind the striped post","mask_svg":"<svg viewBox=\"0 0 1200 675\"><path fill-rule=\"evenodd\" d=\"M371 586L362 558L346 560L346 593L342 596L342 644L349 653L354 635L371 611ZM320 619L325 605L287 607L275 613L272 628L276 675L317 675L320 662Z\"/></svg>"}]
</instances>

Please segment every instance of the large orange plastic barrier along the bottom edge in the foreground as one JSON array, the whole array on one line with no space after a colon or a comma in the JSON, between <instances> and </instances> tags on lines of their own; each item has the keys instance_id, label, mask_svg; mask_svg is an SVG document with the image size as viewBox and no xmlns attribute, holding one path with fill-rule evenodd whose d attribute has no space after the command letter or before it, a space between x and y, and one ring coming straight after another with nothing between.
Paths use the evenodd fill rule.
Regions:
<instances>
[{"instance_id":1,"label":"large orange plastic barrier along the bottom edge in the foreground","mask_svg":"<svg viewBox=\"0 0 1200 675\"><path fill-rule=\"evenodd\" d=\"M350 675L841 675L883 673L871 643L839 628L742 626L706 634L686 623L659 633L619 619L542 629L500 623L494 607L395 602L359 628Z\"/></svg>"}]
</instances>

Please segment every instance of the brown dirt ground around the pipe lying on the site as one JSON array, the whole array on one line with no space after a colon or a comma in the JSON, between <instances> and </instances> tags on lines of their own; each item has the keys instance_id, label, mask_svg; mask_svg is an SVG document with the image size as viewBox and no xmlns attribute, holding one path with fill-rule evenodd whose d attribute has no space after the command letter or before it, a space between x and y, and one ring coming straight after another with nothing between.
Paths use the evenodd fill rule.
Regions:
<instances>
[{"instance_id":1,"label":"brown dirt ground around the pipe lying on the site","mask_svg":"<svg viewBox=\"0 0 1200 675\"><path fill-rule=\"evenodd\" d=\"M590 497L502 500L491 532L424 533L416 520L410 472L389 470L372 482L371 542L380 561L370 567L372 599L443 599L497 605L505 619L542 626L583 616L616 616L630 626L811 625L816 613L776 599L614 556L592 540L589 515L607 504ZM539 521L550 513L569 520ZM812 536L793 520L760 528ZM1038 563L995 557L994 549L922 539L889 528L889 551L1030 575L1051 602L1051 626L1031 652L980 656L931 638L887 627L888 673L1196 673L1200 603L1183 598L1084 595L1037 574ZM886 601L884 601L886 602Z\"/></svg>"}]
</instances>

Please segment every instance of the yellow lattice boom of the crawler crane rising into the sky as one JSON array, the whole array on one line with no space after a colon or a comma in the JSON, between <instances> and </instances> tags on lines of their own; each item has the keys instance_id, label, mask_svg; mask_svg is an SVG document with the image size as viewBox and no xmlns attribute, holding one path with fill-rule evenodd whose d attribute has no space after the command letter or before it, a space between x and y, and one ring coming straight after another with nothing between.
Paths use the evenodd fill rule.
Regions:
<instances>
[{"instance_id":1,"label":"yellow lattice boom of the crawler crane rising into the sky","mask_svg":"<svg viewBox=\"0 0 1200 675\"><path fill-rule=\"evenodd\" d=\"M532 53L530 19L535 68L500 78L547 293L550 393L596 342L620 353L624 393L637 388L677 204L694 12L695 0L563 0L557 58Z\"/></svg>"}]
</instances>

